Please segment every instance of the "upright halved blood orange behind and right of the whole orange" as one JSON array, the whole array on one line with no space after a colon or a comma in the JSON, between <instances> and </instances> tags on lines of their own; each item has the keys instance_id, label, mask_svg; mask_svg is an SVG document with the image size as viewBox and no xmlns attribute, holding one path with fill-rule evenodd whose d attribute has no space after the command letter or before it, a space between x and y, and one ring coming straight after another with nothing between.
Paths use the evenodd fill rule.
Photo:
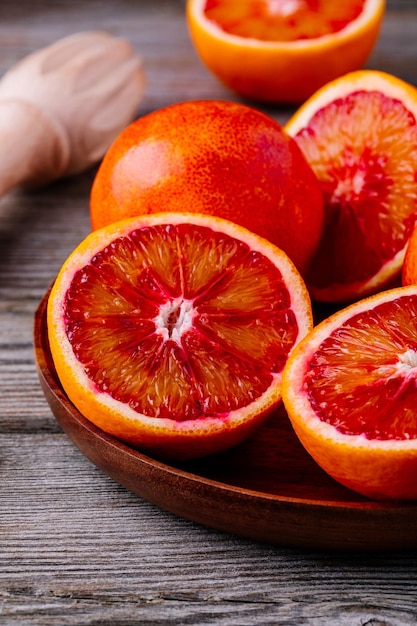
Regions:
<instances>
[{"instance_id":1,"label":"upright halved blood orange behind and right of the whole orange","mask_svg":"<svg viewBox=\"0 0 417 626\"><path fill-rule=\"evenodd\" d=\"M324 195L306 274L313 299L355 300L400 276L417 218L416 120L415 87L363 70L323 87L288 122Z\"/></svg>"}]
</instances>

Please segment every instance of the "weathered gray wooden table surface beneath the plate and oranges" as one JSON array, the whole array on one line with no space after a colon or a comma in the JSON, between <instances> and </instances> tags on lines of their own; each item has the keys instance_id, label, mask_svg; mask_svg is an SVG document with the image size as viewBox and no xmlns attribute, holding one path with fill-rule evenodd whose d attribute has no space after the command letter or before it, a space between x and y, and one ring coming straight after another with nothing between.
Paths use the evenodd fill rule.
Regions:
<instances>
[{"instance_id":1,"label":"weathered gray wooden table surface beneath the plate and oranges","mask_svg":"<svg viewBox=\"0 0 417 626\"><path fill-rule=\"evenodd\" d=\"M236 99L197 59L180 0L2 0L0 75L90 29L143 55L139 114ZM368 66L417 82L416 0L388 1ZM284 122L291 110L268 113ZM273 547L199 526L115 484L60 430L37 378L33 316L89 232L94 173L0 200L0 624L416 624L417 554Z\"/></svg>"}]
</instances>

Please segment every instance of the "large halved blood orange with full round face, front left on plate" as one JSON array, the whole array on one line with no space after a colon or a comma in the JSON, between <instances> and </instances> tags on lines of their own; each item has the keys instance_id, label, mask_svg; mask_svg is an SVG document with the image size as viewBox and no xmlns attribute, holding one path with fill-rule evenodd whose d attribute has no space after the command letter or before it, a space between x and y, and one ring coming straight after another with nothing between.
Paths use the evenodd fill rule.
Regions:
<instances>
[{"instance_id":1,"label":"large halved blood orange with full round face, front left on plate","mask_svg":"<svg viewBox=\"0 0 417 626\"><path fill-rule=\"evenodd\" d=\"M78 410L164 458L224 450L281 400L288 354L312 326L282 250L195 214L90 234L48 302L57 374Z\"/></svg>"}]
</instances>

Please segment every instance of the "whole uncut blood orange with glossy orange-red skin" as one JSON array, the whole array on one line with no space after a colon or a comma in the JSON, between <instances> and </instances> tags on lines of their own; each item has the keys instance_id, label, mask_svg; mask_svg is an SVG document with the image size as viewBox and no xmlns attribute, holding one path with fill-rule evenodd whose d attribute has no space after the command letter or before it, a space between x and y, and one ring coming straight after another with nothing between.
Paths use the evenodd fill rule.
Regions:
<instances>
[{"instance_id":1,"label":"whole uncut blood orange with glossy orange-red skin","mask_svg":"<svg viewBox=\"0 0 417 626\"><path fill-rule=\"evenodd\" d=\"M221 101L175 104L128 126L90 205L94 229L160 211L217 215L281 247L300 271L323 226L321 189L296 142L271 117Z\"/></svg>"}]
</instances>

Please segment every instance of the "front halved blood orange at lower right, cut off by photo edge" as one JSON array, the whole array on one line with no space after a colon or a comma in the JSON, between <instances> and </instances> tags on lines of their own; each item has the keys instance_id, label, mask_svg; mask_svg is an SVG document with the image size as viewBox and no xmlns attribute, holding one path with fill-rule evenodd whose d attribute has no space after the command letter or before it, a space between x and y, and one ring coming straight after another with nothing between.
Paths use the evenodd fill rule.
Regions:
<instances>
[{"instance_id":1,"label":"front halved blood orange at lower right, cut off by photo edge","mask_svg":"<svg viewBox=\"0 0 417 626\"><path fill-rule=\"evenodd\" d=\"M321 322L287 361L284 405L333 478L376 499L417 499L417 286Z\"/></svg>"}]
</instances>

